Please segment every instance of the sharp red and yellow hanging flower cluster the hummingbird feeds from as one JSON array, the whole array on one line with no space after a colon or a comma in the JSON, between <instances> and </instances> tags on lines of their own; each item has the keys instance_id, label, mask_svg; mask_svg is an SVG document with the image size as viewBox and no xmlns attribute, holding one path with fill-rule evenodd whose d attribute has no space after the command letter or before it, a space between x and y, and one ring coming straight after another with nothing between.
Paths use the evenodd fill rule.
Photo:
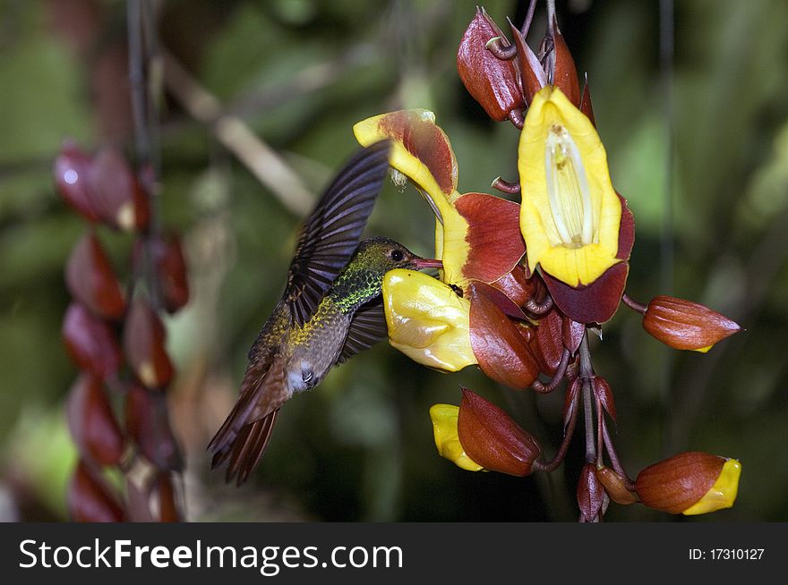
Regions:
<instances>
[{"instance_id":1,"label":"sharp red and yellow hanging flower cluster the hummingbird feeds from","mask_svg":"<svg viewBox=\"0 0 788 585\"><path fill-rule=\"evenodd\" d=\"M741 464L685 453L630 479L609 432L616 420L612 389L597 376L589 329L601 329L621 302L643 327L676 349L707 352L740 330L698 303L664 295L647 305L624 292L635 222L615 191L595 128L588 83L580 89L556 21L538 52L526 22L510 22L512 41L477 8L459 44L460 79L493 120L518 129L518 182L492 186L520 202L487 193L460 193L450 141L426 110L381 114L356 123L364 146L393 142L395 181L409 179L436 216L439 278L409 270L385 276L383 299L390 343L434 369L478 365L514 389L565 388L564 437L552 459L534 437L481 396L462 389L459 406L430 411L441 456L470 471L527 476L563 461L578 418L586 420L587 462L578 479L581 521L600 521L610 500L668 513L730 507Z\"/></svg>"}]
</instances>

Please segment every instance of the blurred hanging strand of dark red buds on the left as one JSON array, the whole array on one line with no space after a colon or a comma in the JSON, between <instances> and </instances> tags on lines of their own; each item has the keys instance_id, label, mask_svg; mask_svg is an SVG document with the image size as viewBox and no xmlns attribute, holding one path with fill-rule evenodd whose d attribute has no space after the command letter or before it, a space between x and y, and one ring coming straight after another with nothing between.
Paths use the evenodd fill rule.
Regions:
<instances>
[{"instance_id":1,"label":"blurred hanging strand of dark red buds on the left","mask_svg":"<svg viewBox=\"0 0 788 585\"><path fill-rule=\"evenodd\" d=\"M150 186L116 149L91 157L67 143L54 172L57 191L87 222L65 268L73 301L63 339L80 369L66 408L80 455L69 513L73 521L178 521L183 462L167 418L174 369L158 310L174 313L189 299L180 239L152 228ZM133 235L125 288L99 240L102 227ZM124 474L124 490L110 480L113 469Z\"/></svg>"}]
</instances>

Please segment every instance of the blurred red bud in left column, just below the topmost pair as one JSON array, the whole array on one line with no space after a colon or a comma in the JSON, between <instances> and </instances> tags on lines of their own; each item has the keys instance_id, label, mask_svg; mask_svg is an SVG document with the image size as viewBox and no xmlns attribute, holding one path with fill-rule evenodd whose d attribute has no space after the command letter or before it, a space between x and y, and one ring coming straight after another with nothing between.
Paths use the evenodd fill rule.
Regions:
<instances>
[{"instance_id":1,"label":"blurred red bud in left column, just below the topmost pair","mask_svg":"<svg viewBox=\"0 0 788 585\"><path fill-rule=\"evenodd\" d=\"M124 293L93 233L85 234L74 246L65 267L65 284L77 301L101 317L124 316Z\"/></svg>"}]
</instances>

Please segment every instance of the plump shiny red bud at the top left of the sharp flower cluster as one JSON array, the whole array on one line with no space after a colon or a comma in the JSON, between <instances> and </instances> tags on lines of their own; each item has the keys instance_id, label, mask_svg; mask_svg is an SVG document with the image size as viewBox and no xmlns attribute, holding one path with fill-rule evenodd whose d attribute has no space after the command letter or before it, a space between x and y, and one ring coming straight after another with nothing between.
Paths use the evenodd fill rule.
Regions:
<instances>
[{"instance_id":1,"label":"plump shiny red bud at the top left of the sharp flower cluster","mask_svg":"<svg viewBox=\"0 0 788 585\"><path fill-rule=\"evenodd\" d=\"M504 47L509 45L484 8L477 7L474 20L459 42L457 71L468 93L487 115L501 122L525 102L518 83L517 61L501 60L486 48L487 42L496 37L501 38Z\"/></svg>"}]
</instances>

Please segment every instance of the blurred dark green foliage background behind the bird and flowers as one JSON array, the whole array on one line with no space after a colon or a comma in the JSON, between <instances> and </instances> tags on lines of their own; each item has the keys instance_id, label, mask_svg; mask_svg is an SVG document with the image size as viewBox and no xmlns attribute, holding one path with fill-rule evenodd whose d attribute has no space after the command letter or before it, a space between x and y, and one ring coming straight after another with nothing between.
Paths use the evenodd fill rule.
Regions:
<instances>
[{"instance_id":1,"label":"blurred dark green foliage background behind the bird and flowers","mask_svg":"<svg viewBox=\"0 0 788 585\"><path fill-rule=\"evenodd\" d=\"M525 4L484 5L505 24L506 16L521 21ZM641 301L669 293L703 302L746 331L707 355L671 352L621 309L593 347L595 369L617 398L615 441L630 475L684 450L736 457L736 505L694 520L785 521L788 452L777 446L788 424L788 352L779 346L788 324L788 4L675 3L671 71L660 64L659 4L558 3L561 30L592 84L613 183L637 222L628 290ZM354 150L353 123L402 107L433 109L458 157L461 191L517 176L517 131L486 119L458 81L455 51L474 3L159 7L161 46L313 192ZM98 33L85 48L80 35L97 13ZM133 152L128 108L105 87L115 78L96 73L109 67L101 60L108 47L124 42L124 16L122 2L0 0L0 491L10 496L0 502L15 502L0 505L0 520L65 518L75 455L62 412L76 369L60 341L69 301L63 267L83 225L56 196L51 164L66 137ZM540 3L532 46L543 30ZM427 414L433 403L458 403L462 384L556 445L560 392L514 393L474 369L441 375L385 343L287 404L251 485L227 487L211 474L205 445L281 293L299 217L171 97L159 130L162 222L184 234L192 268L193 301L167 321L189 519L574 520L579 439L549 478L473 474L438 457ZM429 255L432 231L415 190L386 187L370 233ZM130 242L100 235L127 275ZM664 516L612 504L608 518Z\"/></svg>"}]
</instances>

